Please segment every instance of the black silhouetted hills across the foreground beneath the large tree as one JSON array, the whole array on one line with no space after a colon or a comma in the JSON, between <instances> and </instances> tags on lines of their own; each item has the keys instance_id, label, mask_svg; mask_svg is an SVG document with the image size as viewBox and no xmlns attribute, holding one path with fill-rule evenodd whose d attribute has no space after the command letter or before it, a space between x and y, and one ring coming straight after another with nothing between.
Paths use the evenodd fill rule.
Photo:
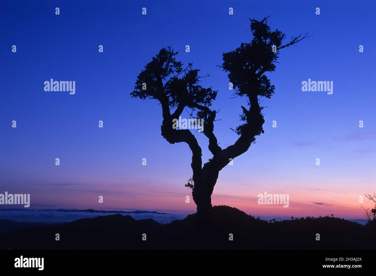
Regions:
<instances>
[{"instance_id":1,"label":"black silhouetted hills across the foreground beneath the large tree","mask_svg":"<svg viewBox=\"0 0 376 276\"><path fill-rule=\"evenodd\" d=\"M0 249L376 249L375 236L374 227L340 218L268 223L236 208L214 206L205 215L163 226L116 214L18 230L0 236Z\"/></svg>"}]
</instances>

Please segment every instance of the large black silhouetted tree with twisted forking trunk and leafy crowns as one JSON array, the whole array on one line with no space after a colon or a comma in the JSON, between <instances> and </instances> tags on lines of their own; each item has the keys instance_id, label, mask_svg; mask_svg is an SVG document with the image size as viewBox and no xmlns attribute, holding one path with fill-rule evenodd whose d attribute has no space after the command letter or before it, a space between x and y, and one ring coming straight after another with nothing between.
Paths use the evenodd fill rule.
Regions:
<instances>
[{"instance_id":1,"label":"large black silhouetted tree with twisted forking trunk and leafy crowns","mask_svg":"<svg viewBox=\"0 0 376 276\"><path fill-rule=\"evenodd\" d=\"M290 42L282 45L286 35L279 30L271 31L267 25L267 17L261 21L250 20L253 39L250 43L241 43L232 52L223 54L223 64L220 66L228 72L236 96L247 99L247 107L243 107L240 115L243 124L235 128L238 140L227 148L219 146L214 135L214 121L218 111L211 108L217 91L211 87L200 85L201 78L198 69L193 69L191 63L183 67L176 61L171 47L163 48L152 61L146 64L144 70L137 76L132 98L157 99L162 107L161 134L171 144L185 142L192 151L192 177L185 185L192 189L193 200L197 211L212 208L211 195L218 179L218 174L230 160L246 152L255 142L256 136L264 133L262 125L264 116L259 105L259 98L270 98L274 93L274 85L264 75L273 72L279 56L279 50L307 37L292 37ZM274 51L273 51L274 48ZM188 129L174 129L173 119L179 118L183 110L188 110L193 118L204 120L202 133L209 140L209 150L213 157L202 164L202 150L196 137Z\"/></svg>"}]
</instances>

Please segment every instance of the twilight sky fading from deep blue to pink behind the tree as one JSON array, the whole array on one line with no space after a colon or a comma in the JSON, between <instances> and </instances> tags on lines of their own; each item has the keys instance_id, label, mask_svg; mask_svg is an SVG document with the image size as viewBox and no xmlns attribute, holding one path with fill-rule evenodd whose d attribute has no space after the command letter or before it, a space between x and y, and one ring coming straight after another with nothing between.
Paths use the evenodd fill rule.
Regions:
<instances>
[{"instance_id":1,"label":"twilight sky fading from deep blue to pink behind the tree","mask_svg":"<svg viewBox=\"0 0 376 276\"><path fill-rule=\"evenodd\" d=\"M130 98L136 76L162 47L179 51L218 91L215 133L237 139L245 99L230 99L216 65L252 39L249 18L290 38L269 74L265 133L220 172L213 204L261 217L362 218L358 198L375 192L375 2L371 1L2 1L0 9L0 193L30 193L32 209L121 209L193 213L191 153L160 134L156 101ZM55 15L55 8L60 15ZM147 15L141 9L147 8ZM229 7L234 10L228 14ZM315 15L319 7L321 14ZM190 53L185 45L190 45ZM12 45L17 53L12 53ZM103 45L104 52L98 52ZM364 52L359 53L359 45ZM45 92L44 81L76 81L76 94ZM333 81L334 92L303 92L302 81ZM188 116L188 114L185 114ZM12 120L17 128L11 127ZM103 120L104 127L98 127ZM277 128L272 128L272 121ZM364 128L359 128L359 120ZM208 141L195 134L203 160ZM60 166L55 166L55 158ZM147 166L141 159L147 159ZM315 165L320 158L321 165ZM290 194L290 207L257 195ZM98 203L98 196L104 202ZM315 204L314 202L324 203ZM365 206L370 204L365 202ZM0 208L9 206L0 206Z\"/></svg>"}]
</instances>

